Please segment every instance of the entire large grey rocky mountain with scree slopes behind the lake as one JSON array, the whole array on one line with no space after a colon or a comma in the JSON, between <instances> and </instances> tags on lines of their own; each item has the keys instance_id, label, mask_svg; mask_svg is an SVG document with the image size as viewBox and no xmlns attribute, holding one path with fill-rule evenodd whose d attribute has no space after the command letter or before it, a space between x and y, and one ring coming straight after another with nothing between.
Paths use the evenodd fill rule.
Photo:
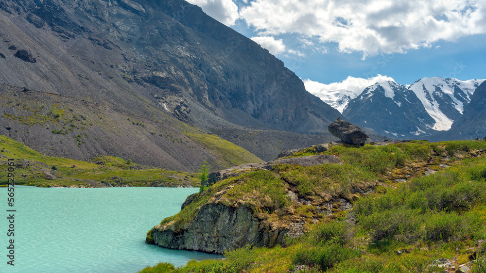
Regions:
<instances>
[{"instance_id":1,"label":"entire large grey rocky mountain with scree slopes behind the lake","mask_svg":"<svg viewBox=\"0 0 486 273\"><path fill-rule=\"evenodd\" d=\"M340 115L337 110L308 93L268 50L186 1L0 0L0 25L0 83L12 86L2 94L18 108L2 107L0 133L45 154L76 159L122 154L144 164L196 170L196 163L206 157L214 164L219 159L206 153L187 126L200 129L200 134L216 132L267 160L297 148L299 139L306 139L298 144L302 146L334 139L327 126ZM19 102L13 91L17 87L40 93L23 93ZM69 101L70 107L50 103L48 97L54 95ZM74 118L69 108L77 117L90 116L90 109L84 108L88 104L109 112L103 116L105 124L93 116L85 126L92 127L90 137L106 144L86 142L80 149L73 138L86 128L66 123L55 128L69 129L63 144L45 145L62 139L46 133L52 124L46 130L46 120L26 110L34 104L45 105L46 116L53 116L49 109L69 113L69 120L58 123ZM24 122L26 115L38 122ZM130 117L143 119L151 129L132 128L132 121L125 132L114 129ZM127 133L139 130L144 137ZM198 151L157 144L156 136L169 131L179 141L190 138ZM293 134L287 136L287 131ZM265 145L257 145L259 141ZM139 149L126 152L127 145L135 144ZM156 147L169 155L157 158Z\"/></svg>"}]
</instances>

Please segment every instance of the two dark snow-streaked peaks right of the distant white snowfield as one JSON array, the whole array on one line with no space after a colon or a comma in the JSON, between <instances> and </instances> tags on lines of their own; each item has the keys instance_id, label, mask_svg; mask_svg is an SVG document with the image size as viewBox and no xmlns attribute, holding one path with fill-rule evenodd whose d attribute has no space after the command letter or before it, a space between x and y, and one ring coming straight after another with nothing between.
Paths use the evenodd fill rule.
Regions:
<instances>
[{"instance_id":1,"label":"two dark snow-streaked peaks right of the distant white snowfield","mask_svg":"<svg viewBox=\"0 0 486 273\"><path fill-rule=\"evenodd\" d=\"M423 139L451 128L483 81L423 78L408 88L394 81L377 82L351 99L343 114L391 138Z\"/></svg>"}]
</instances>

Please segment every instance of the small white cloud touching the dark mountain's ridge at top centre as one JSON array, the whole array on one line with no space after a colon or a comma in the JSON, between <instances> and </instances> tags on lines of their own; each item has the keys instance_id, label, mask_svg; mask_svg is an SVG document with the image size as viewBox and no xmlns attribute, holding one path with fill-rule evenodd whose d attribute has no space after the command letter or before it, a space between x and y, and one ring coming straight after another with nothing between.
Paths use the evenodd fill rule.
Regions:
<instances>
[{"instance_id":1,"label":"small white cloud touching the dark mountain's ridge at top centre","mask_svg":"<svg viewBox=\"0 0 486 273\"><path fill-rule=\"evenodd\" d=\"M232 0L188 0L191 4L197 5L214 19L226 26L232 26L238 19L238 6Z\"/></svg>"}]
</instances>

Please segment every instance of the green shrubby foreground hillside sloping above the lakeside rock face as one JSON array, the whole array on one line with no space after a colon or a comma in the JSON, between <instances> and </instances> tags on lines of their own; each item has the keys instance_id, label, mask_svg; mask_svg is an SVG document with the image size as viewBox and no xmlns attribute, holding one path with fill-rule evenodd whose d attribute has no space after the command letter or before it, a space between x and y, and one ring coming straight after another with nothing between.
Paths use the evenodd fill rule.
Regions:
<instances>
[{"instance_id":1,"label":"green shrubby foreground hillside sloping above the lakeside rock face","mask_svg":"<svg viewBox=\"0 0 486 273\"><path fill-rule=\"evenodd\" d=\"M485 149L483 141L336 145L323 154L343 165L276 165L219 181L161 225L187 225L217 198L273 225L304 221L303 233L285 246L247 246L227 251L225 260L177 269L160 263L141 272L432 273L442 272L433 261L447 258L455 269L467 264L484 273ZM292 157L313 154L310 148ZM352 210L325 206L339 198Z\"/></svg>"}]
</instances>

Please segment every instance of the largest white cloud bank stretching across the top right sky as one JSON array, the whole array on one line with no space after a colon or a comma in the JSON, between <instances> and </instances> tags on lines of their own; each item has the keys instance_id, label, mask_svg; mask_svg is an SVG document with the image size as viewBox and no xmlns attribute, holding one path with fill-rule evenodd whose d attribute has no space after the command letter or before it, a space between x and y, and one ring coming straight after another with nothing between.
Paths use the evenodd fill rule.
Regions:
<instances>
[{"instance_id":1,"label":"largest white cloud bank stretching across the top right sky","mask_svg":"<svg viewBox=\"0 0 486 273\"><path fill-rule=\"evenodd\" d=\"M240 17L262 36L316 37L365 58L486 33L485 6L484 0L255 0Z\"/></svg>"}]
</instances>

